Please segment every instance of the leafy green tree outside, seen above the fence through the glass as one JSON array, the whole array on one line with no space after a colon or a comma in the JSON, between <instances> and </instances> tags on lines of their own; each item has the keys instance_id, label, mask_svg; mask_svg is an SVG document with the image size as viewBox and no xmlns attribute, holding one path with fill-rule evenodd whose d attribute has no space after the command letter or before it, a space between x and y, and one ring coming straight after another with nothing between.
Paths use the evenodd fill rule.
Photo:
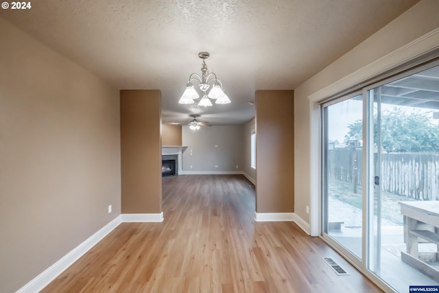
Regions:
<instances>
[{"instance_id":1,"label":"leafy green tree outside, seen above the fence through the glass","mask_svg":"<svg viewBox=\"0 0 439 293\"><path fill-rule=\"evenodd\" d=\"M361 139L362 121L348 126L348 136ZM374 119L374 141L377 141L377 120ZM381 146L386 152L439 152L439 126L431 123L429 113L407 112L394 106L381 114Z\"/></svg>"}]
</instances>

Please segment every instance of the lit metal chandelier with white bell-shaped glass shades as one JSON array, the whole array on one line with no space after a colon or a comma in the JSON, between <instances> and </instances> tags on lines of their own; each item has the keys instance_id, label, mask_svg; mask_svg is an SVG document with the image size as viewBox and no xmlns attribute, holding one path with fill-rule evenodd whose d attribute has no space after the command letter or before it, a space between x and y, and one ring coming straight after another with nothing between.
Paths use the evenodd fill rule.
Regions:
<instances>
[{"instance_id":1,"label":"lit metal chandelier with white bell-shaped glass shades","mask_svg":"<svg viewBox=\"0 0 439 293\"><path fill-rule=\"evenodd\" d=\"M189 75L189 81L186 84L186 89L183 92L179 104L193 104L195 99L198 101L198 106L213 106L211 99L215 99L215 104L228 104L230 99L222 90L222 83L217 79L217 75L209 72L206 65L206 59L209 58L208 52L200 52L198 57L202 58L201 76L197 73ZM198 82L198 89L202 91L202 95L193 87L192 82ZM210 90L210 91L209 91ZM209 92L209 93L208 93Z\"/></svg>"}]
</instances>

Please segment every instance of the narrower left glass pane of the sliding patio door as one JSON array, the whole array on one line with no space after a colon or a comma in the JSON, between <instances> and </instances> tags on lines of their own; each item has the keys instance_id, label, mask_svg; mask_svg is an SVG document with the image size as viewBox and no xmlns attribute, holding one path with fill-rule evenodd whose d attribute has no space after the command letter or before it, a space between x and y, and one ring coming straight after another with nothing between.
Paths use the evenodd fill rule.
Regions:
<instances>
[{"instance_id":1,"label":"narrower left glass pane of the sliding patio door","mask_svg":"<svg viewBox=\"0 0 439 293\"><path fill-rule=\"evenodd\" d=\"M361 259L361 95L324 105L324 233Z\"/></svg>"}]
</instances>

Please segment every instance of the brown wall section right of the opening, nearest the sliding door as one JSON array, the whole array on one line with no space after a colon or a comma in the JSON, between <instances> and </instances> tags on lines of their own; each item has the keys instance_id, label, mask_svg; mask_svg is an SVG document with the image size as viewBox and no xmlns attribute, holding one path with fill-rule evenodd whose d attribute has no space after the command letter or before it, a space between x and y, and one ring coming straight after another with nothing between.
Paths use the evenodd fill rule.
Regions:
<instances>
[{"instance_id":1,"label":"brown wall section right of the opening, nearest the sliding door","mask_svg":"<svg viewBox=\"0 0 439 293\"><path fill-rule=\"evenodd\" d=\"M257 213L294 212L294 91L256 92Z\"/></svg>"}]
</instances>

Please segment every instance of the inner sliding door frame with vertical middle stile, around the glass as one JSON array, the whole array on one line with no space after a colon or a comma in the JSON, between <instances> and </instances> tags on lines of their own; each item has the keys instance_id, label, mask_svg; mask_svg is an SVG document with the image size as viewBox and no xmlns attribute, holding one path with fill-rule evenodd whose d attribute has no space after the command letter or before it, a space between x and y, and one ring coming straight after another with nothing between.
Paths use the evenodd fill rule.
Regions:
<instances>
[{"instance_id":1,"label":"inner sliding door frame with vertical middle stile, around the glass","mask_svg":"<svg viewBox=\"0 0 439 293\"><path fill-rule=\"evenodd\" d=\"M436 58L437 59L437 58ZM373 211L373 194L374 194L374 178L375 172L374 172L374 139L373 139L373 130L374 130L374 113L373 113L373 107L374 107L374 100L369 96L370 90L379 88L379 86L382 86L384 84L388 84L390 82L393 82L395 80L399 80L401 78L407 77L409 75L412 75L414 73L418 73L420 71L423 71L425 69L429 69L431 67L436 67L439 65L439 60L429 60L427 63L423 63L422 65L414 65L410 69L407 69L403 72L394 74L392 76L389 76L388 78L383 78L382 80L379 80L379 82L374 82L373 84L369 84L368 86L364 86L361 91L353 91L351 93L348 93L346 95L338 96L333 99L325 100L324 102L317 103L320 108L320 211L322 216L320 217L320 237L327 242L331 247L333 247L335 250L337 250L338 253L343 255L348 261L350 261L354 266L356 266L361 272L363 272L366 277L374 281L379 287L383 288L384 290L393 290L385 281L380 279L377 274L379 274L379 267L381 263L381 258L379 255L375 255L375 259L371 259L371 257L374 257L372 254L370 248L373 246L379 245L380 247L375 247L375 249L381 250L381 244L379 242L379 238L372 237L373 233L375 231L372 231L374 229L374 226L372 225L372 222L370 221L370 217L374 216ZM333 104L337 104L338 102L342 102L344 100L350 99L351 97L355 97L357 95L362 95L363 100L363 145L362 145L362 159L363 162L365 162L362 165L362 174L364 174L361 178L362 180L362 186L365 187L362 189L362 245L361 245L361 259L359 259L355 254L351 253L347 248L342 246L339 242L337 242L335 239L332 239L331 235L326 233L327 231L327 217L328 217L328 209L327 209L327 197L325 196L324 192L327 188L327 180L326 176L324 176L324 170L327 168L327 158L326 158L326 152L327 152L327 107L331 106ZM378 109L379 110L379 109ZM377 188L381 189L381 185L379 185ZM379 199L380 200L380 199ZM380 208L378 207L380 210ZM379 220L379 211L378 210L378 220ZM372 218L373 220L373 218ZM380 223L377 222L379 225ZM380 237L379 233L379 226L378 226L378 235L377 237ZM373 244L371 242L374 242ZM371 263L373 263L373 267L375 268L375 272L371 270Z\"/></svg>"}]
</instances>

